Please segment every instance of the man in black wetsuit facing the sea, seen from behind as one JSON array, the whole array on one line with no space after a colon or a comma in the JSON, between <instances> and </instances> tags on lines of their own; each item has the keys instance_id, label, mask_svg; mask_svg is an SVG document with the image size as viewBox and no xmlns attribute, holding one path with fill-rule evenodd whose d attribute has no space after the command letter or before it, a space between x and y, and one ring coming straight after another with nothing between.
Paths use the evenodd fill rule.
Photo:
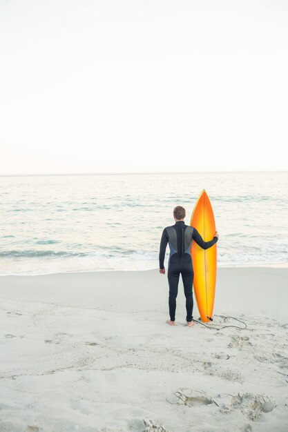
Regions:
<instances>
[{"instance_id":1,"label":"man in black wetsuit facing the sea, seen from behind","mask_svg":"<svg viewBox=\"0 0 288 432\"><path fill-rule=\"evenodd\" d=\"M166 322L171 326L175 326L175 310L176 310L176 297L178 293L178 282L180 273L184 285L184 294L186 297L186 322L189 327L193 323L193 263L191 258L191 243L194 240L203 249L208 249L218 242L219 234L217 231L210 242L204 242L200 233L196 228L185 225L184 217L186 211L182 206L177 206L173 210L175 224L166 226L164 228L160 243L159 263L160 273L165 274L164 258L167 243L170 246L170 255L168 263L168 282L169 282L169 315L170 320Z\"/></svg>"}]
</instances>

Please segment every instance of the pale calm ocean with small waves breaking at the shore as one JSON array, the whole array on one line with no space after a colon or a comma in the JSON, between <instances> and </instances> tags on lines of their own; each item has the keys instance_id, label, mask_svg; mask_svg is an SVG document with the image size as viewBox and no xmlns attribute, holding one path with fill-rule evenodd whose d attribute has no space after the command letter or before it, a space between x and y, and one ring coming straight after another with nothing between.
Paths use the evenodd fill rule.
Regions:
<instances>
[{"instance_id":1,"label":"pale calm ocean with small waves breaking at the shore","mask_svg":"<svg viewBox=\"0 0 288 432\"><path fill-rule=\"evenodd\" d=\"M218 266L287 263L287 185L287 171L2 176L0 275L158 268L173 208L189 224L203 189Z\"/></svg>"}]
</instances>

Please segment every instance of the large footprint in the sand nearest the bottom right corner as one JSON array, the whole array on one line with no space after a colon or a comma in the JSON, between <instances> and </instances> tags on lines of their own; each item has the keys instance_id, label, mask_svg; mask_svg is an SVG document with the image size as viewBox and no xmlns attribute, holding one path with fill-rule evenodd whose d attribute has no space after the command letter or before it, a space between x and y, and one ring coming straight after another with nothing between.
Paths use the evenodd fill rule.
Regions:
<instances>
[{"instance_id":1,"label":"large footprint in the sand nearest the bottom right corner","mask_svg":"<svg viewBox=\"0 0 288 432\"><path fill-rule=\"evenodd\" d=\"M240 409L243 415L249 420L258 420L263 413L270 413L276 407L276 401L266 395L253 395L244 393L243 395L232 396L230 402L231 409Z\"/></svg>"}]
</instances>

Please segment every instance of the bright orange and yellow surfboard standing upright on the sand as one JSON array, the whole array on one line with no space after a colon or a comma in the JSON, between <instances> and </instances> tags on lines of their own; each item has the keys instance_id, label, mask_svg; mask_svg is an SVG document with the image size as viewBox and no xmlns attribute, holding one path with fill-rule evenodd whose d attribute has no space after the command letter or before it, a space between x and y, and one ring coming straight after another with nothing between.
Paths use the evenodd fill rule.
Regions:
<instances>
[{"instance_id":1,"label":"bright orange and yellow surfboard standing upright on the sand","mask_svg":"<svg viewBox=\"0 0 288 432\"><path fill-rule=\"evenodd\" d=\"M198 230L204 242L209 242L215 234L213 208L203 189L193 209L190 225ZM194 269L194 293L202 322L209 322L213 316L217 274L217 243L209 249L202 249L194 241L191 244Z\"/></svg>"}]
</instances>

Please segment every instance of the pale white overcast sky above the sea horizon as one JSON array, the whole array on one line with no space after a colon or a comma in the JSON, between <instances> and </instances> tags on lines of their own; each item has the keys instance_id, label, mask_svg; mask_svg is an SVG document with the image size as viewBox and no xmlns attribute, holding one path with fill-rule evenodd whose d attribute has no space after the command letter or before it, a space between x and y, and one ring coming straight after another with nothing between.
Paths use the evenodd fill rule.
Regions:
<instances>
[{"instance_id":1,"label":"pale white overcast sky above the sea horizon","mask_svg":"<svg viewBox=\"0 0 288 432\"><path fill-rule=\"evenodd\" d=\"M0 0L0 174L287 170L287 0Z\"/></svg>"}]
</instances>

